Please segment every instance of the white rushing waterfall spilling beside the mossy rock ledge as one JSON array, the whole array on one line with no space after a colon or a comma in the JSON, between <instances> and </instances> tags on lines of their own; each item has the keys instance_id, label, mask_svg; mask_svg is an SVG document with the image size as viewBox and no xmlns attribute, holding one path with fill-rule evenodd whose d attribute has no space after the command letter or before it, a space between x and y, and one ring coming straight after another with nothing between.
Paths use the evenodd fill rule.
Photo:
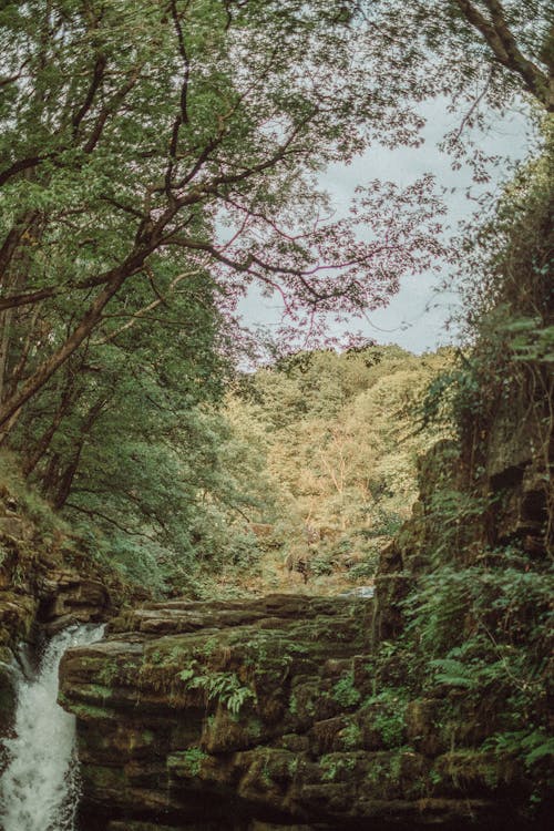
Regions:
<instances>
[{"instance_id":1,"label":"white rushing waterfall spilling beside the mossy rock ledge","mask_svg":"<svg viewBox=\"0 0 554 831\"><path fill-rule=\"evenodd\" d=\"M79 801L75 717L57 702L58 667L70 646L102 637L103 626L71 626L45 646L39 668L18 673L16 737L6 739L0 780L3 831L74 831Z\"/></svg>"}]
</instances>

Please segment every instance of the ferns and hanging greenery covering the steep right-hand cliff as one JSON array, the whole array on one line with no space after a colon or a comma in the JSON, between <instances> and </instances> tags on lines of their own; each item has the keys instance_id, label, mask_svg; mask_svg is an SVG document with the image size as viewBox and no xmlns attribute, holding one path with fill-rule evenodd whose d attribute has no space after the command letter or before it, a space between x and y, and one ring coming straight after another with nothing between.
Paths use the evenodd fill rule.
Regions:
<instances>
[{"instance_id":1,"label":"ferns and hanging greenery covering the steep right-hand cliff","mask_svg":"<svg viewBox=\"0 0 554 831\"><path fill-rule=\"evenodd\" d=\"M530 815L548 813L554 755L552 227L546 133L545 154L468 238L473 347L423 406L455 441L427 461L424 515L397 542L410 587L373 666L389 698L442 701L452 748L521 762Z\"/></svg>"}]
</instances>

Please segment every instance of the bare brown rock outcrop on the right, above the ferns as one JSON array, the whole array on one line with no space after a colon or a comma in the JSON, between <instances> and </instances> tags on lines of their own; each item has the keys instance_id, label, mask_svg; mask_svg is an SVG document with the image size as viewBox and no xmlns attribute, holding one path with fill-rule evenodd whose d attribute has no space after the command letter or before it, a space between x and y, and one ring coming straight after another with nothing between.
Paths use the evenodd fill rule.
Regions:
<instances>
[{"instance_id":1,"label":"bare brown rock outcrop on the right, above the ferns","mask_svg":"<svg viewBox=\"0 0 554 831\"><path fill-rule=\"evenodd\" d=\"M502 556L503 550L516 547L527 556L526 572L547 566L554 552L548 520L554 509L553 383L551 378L547 394L542 389L536 401L520 391L500 402L483 425L479 462L472 437L462 448L454 441L439 442L419 460L412 516L379 558L376 642L402 633L408 594L445 562L463 568L482 562L486 550ZM432 552L438 552L434 558Z\"/></svg>"}]
</instances>

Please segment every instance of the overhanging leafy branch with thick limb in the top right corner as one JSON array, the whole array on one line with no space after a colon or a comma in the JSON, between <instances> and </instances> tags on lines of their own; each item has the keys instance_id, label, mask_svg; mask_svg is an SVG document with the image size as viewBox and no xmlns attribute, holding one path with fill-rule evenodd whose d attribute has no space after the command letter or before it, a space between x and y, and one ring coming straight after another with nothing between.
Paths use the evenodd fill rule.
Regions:
<instances>
[{"instance_id":1,"label":"overhanging leafy branch with thick limb in the top right corner","mask_svg":"<svg viewBox=\"0 0 554 831\"><path fill-rule=\"evenodd\" d=\"M371 33L368 53L392 83L403 76L404 101L437 95L455 115L443 147L484 182L481 135L514 101L554 110L554 20L548 0L376 0L360 8ZM381 58L382 60L382 58ZM491 117L492 116L492 117ZM473 135L472 135L473 133Z\"/></svg>"}]
</instances>

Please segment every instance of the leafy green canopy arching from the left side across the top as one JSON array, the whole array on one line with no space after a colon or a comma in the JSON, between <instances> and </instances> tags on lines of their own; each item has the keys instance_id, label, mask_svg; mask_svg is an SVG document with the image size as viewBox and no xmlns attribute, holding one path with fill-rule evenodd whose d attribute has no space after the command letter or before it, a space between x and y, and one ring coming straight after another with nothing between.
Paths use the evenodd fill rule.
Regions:
<instances>
[{"instance_id":1,"label":"leafy green canopy arching from the left side across the top","mask_svg":"<svg viewBox=\"0 0 554 831\"><path fill-rule=\"evenodd\" d=\"M548 25L535 0L3 3L0 423L25 474L122 538L155 526L160 556L205 541L198 500L237 499L214 409L237 300L321 332L449 256L430 176L360 183L337 219L319 174L418 145L447 96L444 147L486 178L472 129L552 109Z\"/></svg>"}]
</instances>

